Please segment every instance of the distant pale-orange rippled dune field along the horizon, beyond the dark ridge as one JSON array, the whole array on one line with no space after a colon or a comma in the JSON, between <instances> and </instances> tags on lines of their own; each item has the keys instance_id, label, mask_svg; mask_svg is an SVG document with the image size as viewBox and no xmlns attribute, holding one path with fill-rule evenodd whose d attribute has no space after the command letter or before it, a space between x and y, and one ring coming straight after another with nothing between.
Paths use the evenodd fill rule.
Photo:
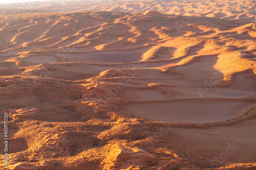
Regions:
<instances>
[{"instance_id":1,"label":"distant pale-orange rippled dune field along the horizon, beyond the dark ridge","mask_svg":"<svg viewBox=\"0 0 256 170\"><path fill-rule=\"evenodd\" d=\"M8 4L0 5L2 14L19 14L24 12L69 12L69 11L114 11L129 13L148 13L158 11L164 14L215 17L226 20L238 20L245 22L255 22L255 3L253 1L164 1L164 0L146 0L146 1L45 1L28 2L24 4L12 4L10 9ZM186 19L184 19L186 22Z\"/></svg>"}]
</instances>

